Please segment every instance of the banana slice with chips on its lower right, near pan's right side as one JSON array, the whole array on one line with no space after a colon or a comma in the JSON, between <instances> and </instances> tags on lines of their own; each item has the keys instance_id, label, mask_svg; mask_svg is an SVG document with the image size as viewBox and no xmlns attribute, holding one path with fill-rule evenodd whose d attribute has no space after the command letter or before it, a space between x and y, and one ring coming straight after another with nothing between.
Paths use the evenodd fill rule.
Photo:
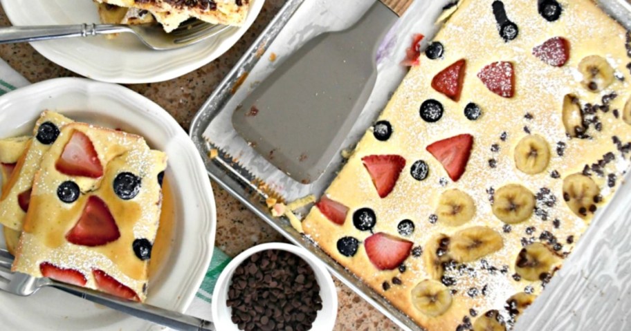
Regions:
<instances>
[{"instance_id":1,"label":"banana slice with chips on its lower right, near pan's right side","mask_svg":"<svg viewBox=\"0 0 631 331\"><path fill-rule=\"evenodd\" d=\"M563 200L574 214L585 218L596 211L601 189L582 173L574 173L563 180Z\"/></svg>"}]
</instances>

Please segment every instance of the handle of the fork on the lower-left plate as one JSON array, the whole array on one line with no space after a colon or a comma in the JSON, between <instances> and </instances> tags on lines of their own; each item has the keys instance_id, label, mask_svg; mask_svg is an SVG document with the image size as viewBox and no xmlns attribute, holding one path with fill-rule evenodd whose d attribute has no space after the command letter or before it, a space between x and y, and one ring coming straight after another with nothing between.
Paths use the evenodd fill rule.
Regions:
<instances>
[{"instance_id":1,"label":"handle of the fork on the lower-left plate","mask_svg":"<svg viewBox=\"0 0 631 331\"><path fill-rule=\"evenodd\" d=\"M92 290L64 283L57 283L56 281L53 283L53 287L57 287L64 292L79 296L82 299L92 301L93 303L98 303L113 310L118 310L119 312L124 312L125 314L129 314L131 316L136 316L139 319L144 319L145 321L158 323L174 330L215 330L214 325L211 322L204 321L203 319L198 319L193 316L181 314L179 312L172 312L170 310L165 310L163 308L147 305L145 303L138 303L135 301L124 301L116 296L111 296L109 294L101 292L94 292L93 294Z\"/></svg>"}]
</instances>

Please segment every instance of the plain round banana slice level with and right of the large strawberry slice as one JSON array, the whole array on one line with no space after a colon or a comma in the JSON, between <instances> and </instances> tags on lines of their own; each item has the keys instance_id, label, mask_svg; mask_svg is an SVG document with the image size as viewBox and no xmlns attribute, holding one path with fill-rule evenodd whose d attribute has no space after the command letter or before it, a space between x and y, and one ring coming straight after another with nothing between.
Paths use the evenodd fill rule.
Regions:
<instances>
[{"instance_id":1,"label":"plain round banana slice level with and right of the large strawberry slice","mask_svg":"<svg viewBox=\"0 0 631 331\"><path fill-rule=\"evenodd\" d=\"M540 135L527 135L515 146L515 166L523 173L541 173L550 162L550 146Z\"/></svg>"}]
</instances>

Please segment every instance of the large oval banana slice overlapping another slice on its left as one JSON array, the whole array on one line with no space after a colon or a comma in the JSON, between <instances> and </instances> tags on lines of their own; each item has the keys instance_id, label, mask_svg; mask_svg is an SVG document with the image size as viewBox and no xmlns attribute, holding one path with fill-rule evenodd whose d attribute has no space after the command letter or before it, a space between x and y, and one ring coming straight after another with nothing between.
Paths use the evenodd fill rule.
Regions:
<instances>
[{"instance_id":1,"label":"large oval banana slice overlapping another slice on its left","mask_svg":"<svg viewBox=\"0 0 631 331\"><path fill-rule=\"evenodd\" d=\"M475 261L504 247L502 236L490 227L457 231L449 245L450 256L459 263Z\"/></svg>"}]
</instances>

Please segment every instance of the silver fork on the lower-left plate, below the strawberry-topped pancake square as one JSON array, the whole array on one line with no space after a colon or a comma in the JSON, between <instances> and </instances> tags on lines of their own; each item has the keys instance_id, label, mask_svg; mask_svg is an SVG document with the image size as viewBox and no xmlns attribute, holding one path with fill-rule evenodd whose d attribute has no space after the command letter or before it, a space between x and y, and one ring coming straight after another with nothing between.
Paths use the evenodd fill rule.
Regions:
<instances>
[{"instance_id":1,"label":"silver fork on the lower-left plate, below the strawberry-topped pancake square","mask_svg":"<svg viewBox=\"0 0 631 331\"><path fill-rule=\"evenodd\" d=\"M127 301L84 287L60 283L51 278L36 278L28 274L11 272L12 263L13 256L5 249L0 249L0 290L4 292L18 296L30 296L42 287L53 286L64 292L79 296L82 299L104 305L113 310L118 310L119 312L124 312L125 314L136 316L146 321L164 325L167 328L185 331L215 330L211 322L180 314L179 312L172 312L135 301Z\"/></svg>"}]
</instances>

